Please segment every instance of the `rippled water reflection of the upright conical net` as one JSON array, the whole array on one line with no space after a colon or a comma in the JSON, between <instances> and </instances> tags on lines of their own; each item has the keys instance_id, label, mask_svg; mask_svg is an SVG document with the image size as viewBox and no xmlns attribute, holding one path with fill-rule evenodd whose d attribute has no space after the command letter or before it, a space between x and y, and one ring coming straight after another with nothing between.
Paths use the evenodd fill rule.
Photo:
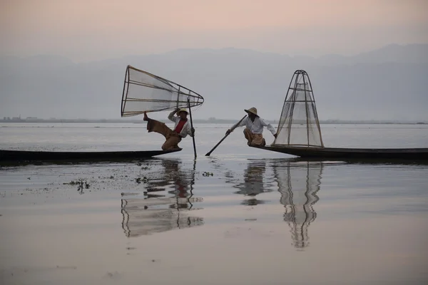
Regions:
<instances>
[{"instance_id":1,"label":"rippled water reflection of the upright conical net","mask_svg":"<svg viewBox=\"0 0 428 285\"><path fill-rule=\"evenodd\" d=\"M308 227L317 213L313 205L318 201L322 163L286 162L274 165L280 203L285 207L284 221L290 226L292 245L297 249L309 246Z\"/></svg>"}]
</instances>

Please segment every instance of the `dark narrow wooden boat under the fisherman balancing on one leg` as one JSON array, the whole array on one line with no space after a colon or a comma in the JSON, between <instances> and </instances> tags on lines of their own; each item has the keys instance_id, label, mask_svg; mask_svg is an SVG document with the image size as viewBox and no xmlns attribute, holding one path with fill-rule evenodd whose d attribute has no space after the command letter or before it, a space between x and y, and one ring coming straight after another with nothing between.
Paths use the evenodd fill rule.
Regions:
<instances>
[{"instance_id":1,"label":"dark narrow wooden boat under the fisherman balancing on one leg","mask_svg":"<svg viewBox=\"0 0 428 285\"><path fill-rule=\"evenodd\" d=\"M165 155L177 150L142 150L110 152L49 152L29 150L0 150L0 161L56 161L56 160L138 160L156 155Z\"/></svg>"}]
</instances>

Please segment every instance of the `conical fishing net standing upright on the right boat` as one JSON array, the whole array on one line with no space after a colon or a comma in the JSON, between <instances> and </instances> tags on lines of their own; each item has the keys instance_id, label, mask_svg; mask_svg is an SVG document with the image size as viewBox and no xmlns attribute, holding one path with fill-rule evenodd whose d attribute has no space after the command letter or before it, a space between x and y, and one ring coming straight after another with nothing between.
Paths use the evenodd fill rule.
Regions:
<instances>
[{"instance_id":1,"label":"conical fishing net standing upright on the right boat","mask_svg":"<svg viewBox=\"0 0 428 285\"><path fill-rule=\"evenodd\" d=\"M296 71L282 107L274 146L324 147L309 76Z\"/></svg>"}]
</instances>

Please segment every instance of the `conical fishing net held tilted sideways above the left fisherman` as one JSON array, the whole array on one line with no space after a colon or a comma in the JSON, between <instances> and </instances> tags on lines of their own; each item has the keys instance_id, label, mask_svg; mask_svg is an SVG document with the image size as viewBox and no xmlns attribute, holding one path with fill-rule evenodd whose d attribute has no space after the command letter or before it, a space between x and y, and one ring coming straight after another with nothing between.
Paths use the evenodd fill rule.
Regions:
<instances>
[{"instance_id":1,"label":"conical fishing net held tilted sideways above the left fisherman","mask_svg":"<svg viewBox=\"0 0 428 285\"><path fill-rule=\"evenodd\" d=\"M203 103L203 97L188 88L132 66L126 68L122 117L185 108L188 107L188 99L190 107Z\"/></svg>"}]
</instances>

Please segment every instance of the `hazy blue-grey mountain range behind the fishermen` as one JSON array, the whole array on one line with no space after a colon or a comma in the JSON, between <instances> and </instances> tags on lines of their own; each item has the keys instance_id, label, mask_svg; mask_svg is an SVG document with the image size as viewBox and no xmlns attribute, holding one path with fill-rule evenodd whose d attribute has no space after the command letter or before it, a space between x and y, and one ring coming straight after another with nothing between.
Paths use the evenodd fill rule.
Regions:
<instances>
[{"instance_id":1,"label":"hazy blue-grey mountain range behind the fishermen","mask_svg":"<svg viewBox=\"0 0 428 285\"><path fill-rule=\"evenodd\" d=\"M426 44L320 58L236 48L180 49L88 63L61 56L2 57L0 118L120 118L128 64L203 95L205 103L193 112L197 119L239 119L244 108L255 106L263 118L277 120L292 73L304 69L320 120L428 120Z\"/></svg>"}]
</instances>

